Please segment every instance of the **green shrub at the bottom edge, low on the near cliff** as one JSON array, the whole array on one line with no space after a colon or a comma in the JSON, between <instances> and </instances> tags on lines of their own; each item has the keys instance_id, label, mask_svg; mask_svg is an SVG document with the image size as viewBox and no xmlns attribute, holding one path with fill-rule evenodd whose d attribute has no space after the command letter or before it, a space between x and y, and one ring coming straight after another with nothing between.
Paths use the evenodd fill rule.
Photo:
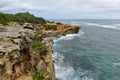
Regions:
<instances>
[{"instance_id":1,"label":"green shrub at the bottom edge, low on the near cliff","mask_svg":"<svg viewBox=\"0 0 120 80\"><path fill-rule=\"evenodd\" d=\"M49 77L49 72L40 71L33 76L34 80L46 80Z\"/></svg>"}]
</instances>

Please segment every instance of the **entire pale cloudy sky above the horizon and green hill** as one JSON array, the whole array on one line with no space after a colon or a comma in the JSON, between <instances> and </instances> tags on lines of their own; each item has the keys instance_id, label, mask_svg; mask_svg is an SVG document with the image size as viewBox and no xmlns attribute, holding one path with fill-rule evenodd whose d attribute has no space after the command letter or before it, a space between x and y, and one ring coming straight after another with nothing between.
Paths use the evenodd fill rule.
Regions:
<instances>
[{"instance_id":1,"label":"entire pale cloudy sky above the horizon and green hill","mask_svg":"<svg viewBox=\"0 0 120 80\"><path fill-rule=\"evenodd\" d=\"M1 0L0 12L45 19L120 19L120 0Z\"/></svg>"}]
</instances>

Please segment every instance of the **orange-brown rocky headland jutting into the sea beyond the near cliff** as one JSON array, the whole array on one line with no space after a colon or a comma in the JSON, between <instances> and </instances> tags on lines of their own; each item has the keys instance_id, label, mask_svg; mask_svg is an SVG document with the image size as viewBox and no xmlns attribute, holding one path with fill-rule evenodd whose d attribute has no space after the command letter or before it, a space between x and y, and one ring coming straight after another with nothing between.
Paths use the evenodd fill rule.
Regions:
<instances>
[{"instance_id":1,"label":"orange-brown rocky headland jutting into the sea beyond the near cliff","mask_svg":"<svg viewBox=\"0 0 120 80\"><path fill-rule=\"evenodd\" d=\"M42 33L44 37L49 37L49 36L78 33L79 29L80 29L80 26L48 23L44 25Z\"/></svg>"}]
</instances>

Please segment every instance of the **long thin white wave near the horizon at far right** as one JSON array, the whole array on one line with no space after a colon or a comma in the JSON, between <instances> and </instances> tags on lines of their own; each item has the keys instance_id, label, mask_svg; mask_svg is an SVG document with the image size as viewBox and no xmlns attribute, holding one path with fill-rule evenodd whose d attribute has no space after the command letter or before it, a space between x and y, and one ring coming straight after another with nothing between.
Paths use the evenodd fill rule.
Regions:
<instances>
[{"instance_id":1,"label":"long thin white wave near the horizon at far right","mask_svg":"<svg viewBox=\"0 0 120 80\"><path fill-rule=\"evenodd\" d=\"M120 24L112 24L112 25L102 25L98 23L84 23L85 25L103 27L103 28L111 28L111 29L120 29Z\"/></svg>"}]
</instances>

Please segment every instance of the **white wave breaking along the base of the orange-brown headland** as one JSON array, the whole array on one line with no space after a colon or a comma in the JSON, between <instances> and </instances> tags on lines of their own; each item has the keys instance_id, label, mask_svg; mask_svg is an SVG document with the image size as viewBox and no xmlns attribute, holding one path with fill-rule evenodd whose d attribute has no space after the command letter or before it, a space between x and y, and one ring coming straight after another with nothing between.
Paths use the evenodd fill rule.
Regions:
<instances>
[{"instance_id":1,"label":"white wave breaking along the base of the orange-brown headland","mask_svg":"<svg viewBox=\"0 0 120 80\"><path fill-rule=\"evenodd\" d=\"M61 36L58 39L54 39L54 42L59 41L59 40L71 40L71 39L74 39L75 37L80 37L83 34L84 32L82 30L79 30L78 34L67 34L66 36Z\"/></svg>"}]
</instances>

